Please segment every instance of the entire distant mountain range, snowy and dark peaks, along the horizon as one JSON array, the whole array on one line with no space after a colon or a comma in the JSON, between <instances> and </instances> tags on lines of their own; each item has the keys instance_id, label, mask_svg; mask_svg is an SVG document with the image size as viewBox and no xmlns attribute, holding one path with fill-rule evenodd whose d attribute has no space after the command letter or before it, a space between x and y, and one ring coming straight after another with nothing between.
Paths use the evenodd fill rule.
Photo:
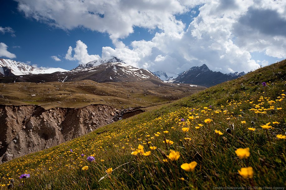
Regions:
<instances>
[{"instance_id":1,"label":"entire distant mountain range, snowy and dark peaks, along the horizon","mask_svg":"<svg viewBox=\"0 0 286 190\"><path fill-rule=\"evenodd\" d=\"M192 67L180 74L164 71L150 72L126 64L117 57L107 56L102 59L81 64L73 70L50 68L43 70L21 62L0 59L0 82L69 82L93 80L103 82L136 82L144 80L164 81L165 83L186 83L210 87L227 80L236 79L244 72L223 74L210 70L207 65Z\"/></svg>"}]
</instances>

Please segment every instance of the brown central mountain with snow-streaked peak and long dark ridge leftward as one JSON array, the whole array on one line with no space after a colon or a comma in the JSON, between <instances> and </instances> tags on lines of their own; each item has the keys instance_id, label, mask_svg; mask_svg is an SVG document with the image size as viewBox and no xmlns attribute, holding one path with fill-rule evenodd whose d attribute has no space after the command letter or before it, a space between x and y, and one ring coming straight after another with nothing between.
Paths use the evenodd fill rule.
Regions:
<instances>
[{"instance_id":1,"label":"brown central mountain with snow-streaked peak and long dark ridge leftward","mask_svg":"<svg viewBox=\"0 0 286 190\"><path fill-rule=\"evenodd\" d=\"M136 82L144 80L162 82L149 70L130 66L117 57L108 56L102 59L82 64L67 72L52 74L24 75L21 77L10 76L0 78L2 83L11 82L71 82L79 80L93 80L95 82Z\"/></svg>"}]
</instances>

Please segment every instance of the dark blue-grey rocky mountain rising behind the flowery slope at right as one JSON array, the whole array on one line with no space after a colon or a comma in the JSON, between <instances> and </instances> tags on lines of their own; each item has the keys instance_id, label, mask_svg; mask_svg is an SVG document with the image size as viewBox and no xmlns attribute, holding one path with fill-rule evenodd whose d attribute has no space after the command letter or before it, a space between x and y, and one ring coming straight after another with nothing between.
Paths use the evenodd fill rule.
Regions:
<instances>
[{"instance_id":1,"label":"dark blue-grey rocky mountain rising behind the flowery slope at right","mask_svg":"<svg viewBox=\"0 0 286 190\"><path fill-rule=\"evenodd\" d=\"M200 67L195 66L183 73L180 73L179 76L174 79L173 83L198 84L210 87L228 80L236 79L244 74L244 72L236 72L234 74L231 73L227 75L221 72L212 71L206 64L203 64Z\"/></svg>"}]
</instances>

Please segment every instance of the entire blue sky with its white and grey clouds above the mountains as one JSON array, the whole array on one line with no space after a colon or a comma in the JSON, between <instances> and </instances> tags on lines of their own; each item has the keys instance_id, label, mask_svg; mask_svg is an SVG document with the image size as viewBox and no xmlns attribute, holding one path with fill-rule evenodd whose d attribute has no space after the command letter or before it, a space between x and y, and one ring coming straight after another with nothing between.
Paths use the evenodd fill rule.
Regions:
<instances>
[{"instance_id":1,"label":"entire blue sky with its white and grey clouds above the mountains","mask_svg":"<svg viewBox=\"0 0 286 190\"><path fill-rule=\"evenodd\" d=\"M286 58L285 0L4 0L0 58L71 70L106 56L150 71L249 72Z\"/></svg>"}]
</instances>

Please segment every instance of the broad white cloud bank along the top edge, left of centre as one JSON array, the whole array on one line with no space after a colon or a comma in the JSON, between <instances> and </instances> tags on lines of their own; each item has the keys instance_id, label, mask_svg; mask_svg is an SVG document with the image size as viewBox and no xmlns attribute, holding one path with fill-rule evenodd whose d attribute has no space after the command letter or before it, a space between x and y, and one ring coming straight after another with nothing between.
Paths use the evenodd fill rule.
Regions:
<instances>
[{"instance_id":1,"label":"broad white cloud bank along the top edge, left of centre","mask_svg":"<svg viewBox=\"0 0 286 190\"><path fill-rule=\"evenodd\" d=\"M44 21L62 29L85 27L107 32L112 39L133 33L133 26L159 28L178 36L184 24L175 14L187 12L199 1L78 1L78 0L16 0L18 10L26 17Z\"/></svg>"}]
</instances>

